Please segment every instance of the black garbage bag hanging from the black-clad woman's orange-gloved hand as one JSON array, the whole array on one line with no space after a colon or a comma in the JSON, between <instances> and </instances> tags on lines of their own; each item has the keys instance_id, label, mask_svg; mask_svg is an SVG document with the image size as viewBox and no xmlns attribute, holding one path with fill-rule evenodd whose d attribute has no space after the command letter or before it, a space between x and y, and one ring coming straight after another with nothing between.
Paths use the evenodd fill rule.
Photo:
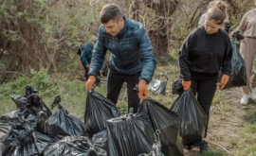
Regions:
<instances>
[{"instance_id":1,"label":"black garbage bag hanging from the black-clad woman's orange-gloved hand","mask_svg":"<svg viewBox=\"0 0 256 156\"><path fill-rule=\"evenodd\" d=\"M171 107L181 119L181 135L185 147L194 147L201 143L206 129L207 116L191 90L184 91Z\"/></svg>"}]
</instances>

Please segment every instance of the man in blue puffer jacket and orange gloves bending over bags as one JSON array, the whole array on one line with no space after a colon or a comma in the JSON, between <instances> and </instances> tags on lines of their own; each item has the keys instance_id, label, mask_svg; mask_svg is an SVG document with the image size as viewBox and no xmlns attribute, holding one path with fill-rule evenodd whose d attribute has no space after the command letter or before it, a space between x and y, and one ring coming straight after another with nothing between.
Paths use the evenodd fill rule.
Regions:
<instances>
[{"instance_id":1,"label":"man in blue puffer jacket and orange gloves bending over bags","mask_svg":"<svg viewBox=\"0 0 256 156\"><path fill-rule=\"evenodd\" d=\"M155 71L153 47L143 25L122 16L115 4L101 10L98 41L93 50L86 89L90 90L101 69L106 51L111 58L107 78L107 98L115 104L124 82L127 83L128 108L137 112L139 98L148 98L146 84ZM138 83L138 95L134 87Z\"/></svg>"}]
</instances>

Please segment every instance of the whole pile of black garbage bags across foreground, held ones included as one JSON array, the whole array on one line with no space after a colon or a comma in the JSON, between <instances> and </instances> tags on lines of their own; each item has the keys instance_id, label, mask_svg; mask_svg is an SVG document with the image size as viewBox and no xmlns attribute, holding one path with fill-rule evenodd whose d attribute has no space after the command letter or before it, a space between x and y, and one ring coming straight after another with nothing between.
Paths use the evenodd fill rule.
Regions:
<instances>
[{"instance_id":1,"label":"whole pile of black garbage bags across foreground, held ones included","mask_svg":"<svg viewBox=\"0 0 256 156\"><path fill-rule=\"evenodd\" d=\"M51 109L38 91L12 95L17 111L0 117L0 155L5 156L182 156L200 144L206 115L190 90L171 109L152 98L137 113L120 110L106 97L88 92L84 122L64 109L56 96ZM74 106L75 107L75 106Z\"/></svg>"}]
</instances>

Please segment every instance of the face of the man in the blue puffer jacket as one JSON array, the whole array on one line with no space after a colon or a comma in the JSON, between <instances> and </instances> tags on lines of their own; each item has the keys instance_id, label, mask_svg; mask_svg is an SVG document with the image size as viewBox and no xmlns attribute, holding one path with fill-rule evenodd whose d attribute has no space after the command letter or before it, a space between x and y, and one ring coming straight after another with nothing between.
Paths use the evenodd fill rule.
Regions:
<instances>
[{"instance_id":1,"label":"face of the man in the blue puffer jacket","mask_svg":"<svg viewBox=\"0 0 256 156\"><path fill-rule=\"evenodd\" d=\"M110 20L108 23L102 25L110 35L117 36L124 26L124 20L120 17L118 21Z\"/></svg>"}]
</instances>

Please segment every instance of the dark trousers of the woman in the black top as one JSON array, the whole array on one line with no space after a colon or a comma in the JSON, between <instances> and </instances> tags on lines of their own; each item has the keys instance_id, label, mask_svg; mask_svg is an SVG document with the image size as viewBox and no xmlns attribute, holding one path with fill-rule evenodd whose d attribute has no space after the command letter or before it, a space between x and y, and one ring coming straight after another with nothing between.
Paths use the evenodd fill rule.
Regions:
<instances>
[{"instance_id":1,"label":"dark trousers of the woman in the black top","mask_svg":"<svg viewBox=\"0 0 256 156\"><path fill-rule=\"evenodd\" d=\"M192 93L193 95L197 95L197 101L207 115L205 137L207 137L210 118L210 105L216 92L217 80L218 77L192 77Z\"/></svg>"}]
</instances>

